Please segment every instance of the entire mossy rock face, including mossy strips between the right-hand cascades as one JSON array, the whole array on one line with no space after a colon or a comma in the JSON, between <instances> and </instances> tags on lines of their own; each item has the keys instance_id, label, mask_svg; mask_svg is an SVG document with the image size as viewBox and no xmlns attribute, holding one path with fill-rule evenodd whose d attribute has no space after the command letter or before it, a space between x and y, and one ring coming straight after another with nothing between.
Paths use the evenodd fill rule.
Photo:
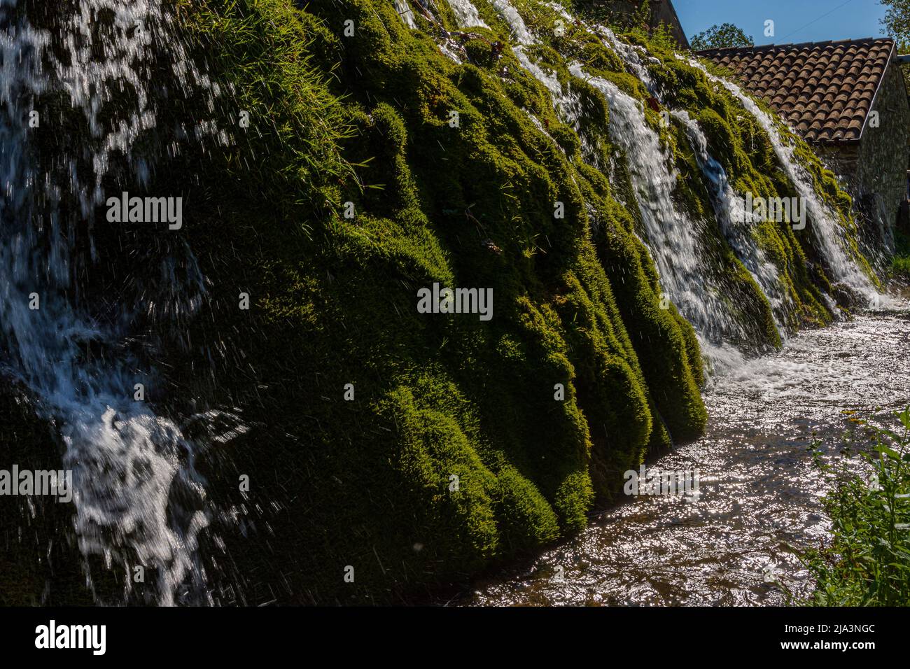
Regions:
<instances>
[{"instance_id":1,"label":"entire mossy rock face, including mossy strips between the right-hand cascades","mask_svg":"<svg viewBox=\"0 0 910 669\"><path fill-rule=\"evenodd\" d=\"M199 536L217 603L392 603L463 587L580 531L622 472L702 433L703 350L658 275L666 245L643 240L647 175L611 134L605 90L652 138L661 204L706 249L689 285L723 287L743 326L733 344L780 344L686 129L664 112L697 121L738 192L791 197L760 124L646 33L628 36L655 59L639 75L660 100L583 23L499 4L479 0L483 25L442 0L411 5L412 29L386 0L178 3L195 53L233 91L211 113L235 138L181 144L149 176L149 193L187 192L171 246L160 227L97 212L95 281L120 285L148 248L189 249L206 277L198 309L147 348L156 410L201 445L207 502L224 511ZM590 77L572 76L579 60ZM207 108L162 105L157 127L184 127L195 106ZM847 221L849 198L794 141ZM116 175L105 186L128 189ZM782 329L830 322L814 238L771 222L750 238L784 287ZM420 313L418 291L434 284L491 290L492 318ZM187 418L209 410L244 429Z\"/></svg>"}]
</instances>

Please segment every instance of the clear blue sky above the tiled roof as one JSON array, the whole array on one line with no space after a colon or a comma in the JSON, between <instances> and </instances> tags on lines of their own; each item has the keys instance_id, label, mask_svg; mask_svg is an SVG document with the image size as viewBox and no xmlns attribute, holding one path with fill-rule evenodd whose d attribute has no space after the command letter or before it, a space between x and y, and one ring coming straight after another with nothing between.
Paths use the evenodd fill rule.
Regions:
<instances>
[{"instance_id":1,"label":"clear blue sky above the tiled roof","mask_svg":"<svg viewBox=\"0 0 910 669\"><path fill-rule=\"evenodd\" d=\"M884 35L878 0L672 0L689 37L714 24L732 23L756 45L820 42ZM774 36L764 36L772 19Z\"/></svg>"}]
</instances>

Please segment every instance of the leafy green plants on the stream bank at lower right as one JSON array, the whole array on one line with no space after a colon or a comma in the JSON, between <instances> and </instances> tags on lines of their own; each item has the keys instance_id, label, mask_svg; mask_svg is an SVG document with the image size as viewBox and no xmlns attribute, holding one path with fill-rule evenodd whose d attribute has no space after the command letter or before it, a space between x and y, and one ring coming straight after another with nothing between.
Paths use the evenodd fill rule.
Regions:
<instances>
[{"instance_id":1,"label":"leafy green plants on the stream bank at lower right","mask_svg":"<svg viewBox=\"0 0 910 669\"><path fill-rule=\"evenodd\" d=\"M814 574L816 606L906 606L910 603L910 410L899 432L866 426L871 472L836 475L824 498L833 522L830 545L803 556ZM864 424L864 421L854 419Z\"/></svg>"}]
</instances>

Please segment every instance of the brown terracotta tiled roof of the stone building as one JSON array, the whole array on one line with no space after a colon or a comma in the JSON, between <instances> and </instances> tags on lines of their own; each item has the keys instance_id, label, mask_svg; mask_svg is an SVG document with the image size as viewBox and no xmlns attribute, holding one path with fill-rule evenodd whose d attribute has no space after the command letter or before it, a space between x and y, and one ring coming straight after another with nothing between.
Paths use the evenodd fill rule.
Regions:
<instances>
[{"instance_id":1,"label":"brown terracotta tiled roof of the stone building","mask_svg":"<svg viewBox=\"0 0 910 669\"><path fill-rule=\"evenodd\" d=\"M709 49L810 142L857 141L894 50L891 39Z\"/></svg>"}]
</instances>

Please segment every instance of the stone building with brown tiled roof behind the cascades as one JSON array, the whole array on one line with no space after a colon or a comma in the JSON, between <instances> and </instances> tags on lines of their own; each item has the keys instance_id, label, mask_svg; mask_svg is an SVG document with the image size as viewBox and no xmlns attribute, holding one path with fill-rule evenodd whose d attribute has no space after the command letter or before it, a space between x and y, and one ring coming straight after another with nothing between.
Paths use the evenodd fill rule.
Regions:
<instances>
[{"instance_id":1,"label":"stone building with brown tiled roof behind the cascades","mask_svg":"<svg viewBox=\"0 0 910 669\"><path fill-rule=\"evenodd\" d=\"M907 193L910 104L886 38L710 49L844 180L869 242L893 244Z\"/></svg>"}]
</instances>

